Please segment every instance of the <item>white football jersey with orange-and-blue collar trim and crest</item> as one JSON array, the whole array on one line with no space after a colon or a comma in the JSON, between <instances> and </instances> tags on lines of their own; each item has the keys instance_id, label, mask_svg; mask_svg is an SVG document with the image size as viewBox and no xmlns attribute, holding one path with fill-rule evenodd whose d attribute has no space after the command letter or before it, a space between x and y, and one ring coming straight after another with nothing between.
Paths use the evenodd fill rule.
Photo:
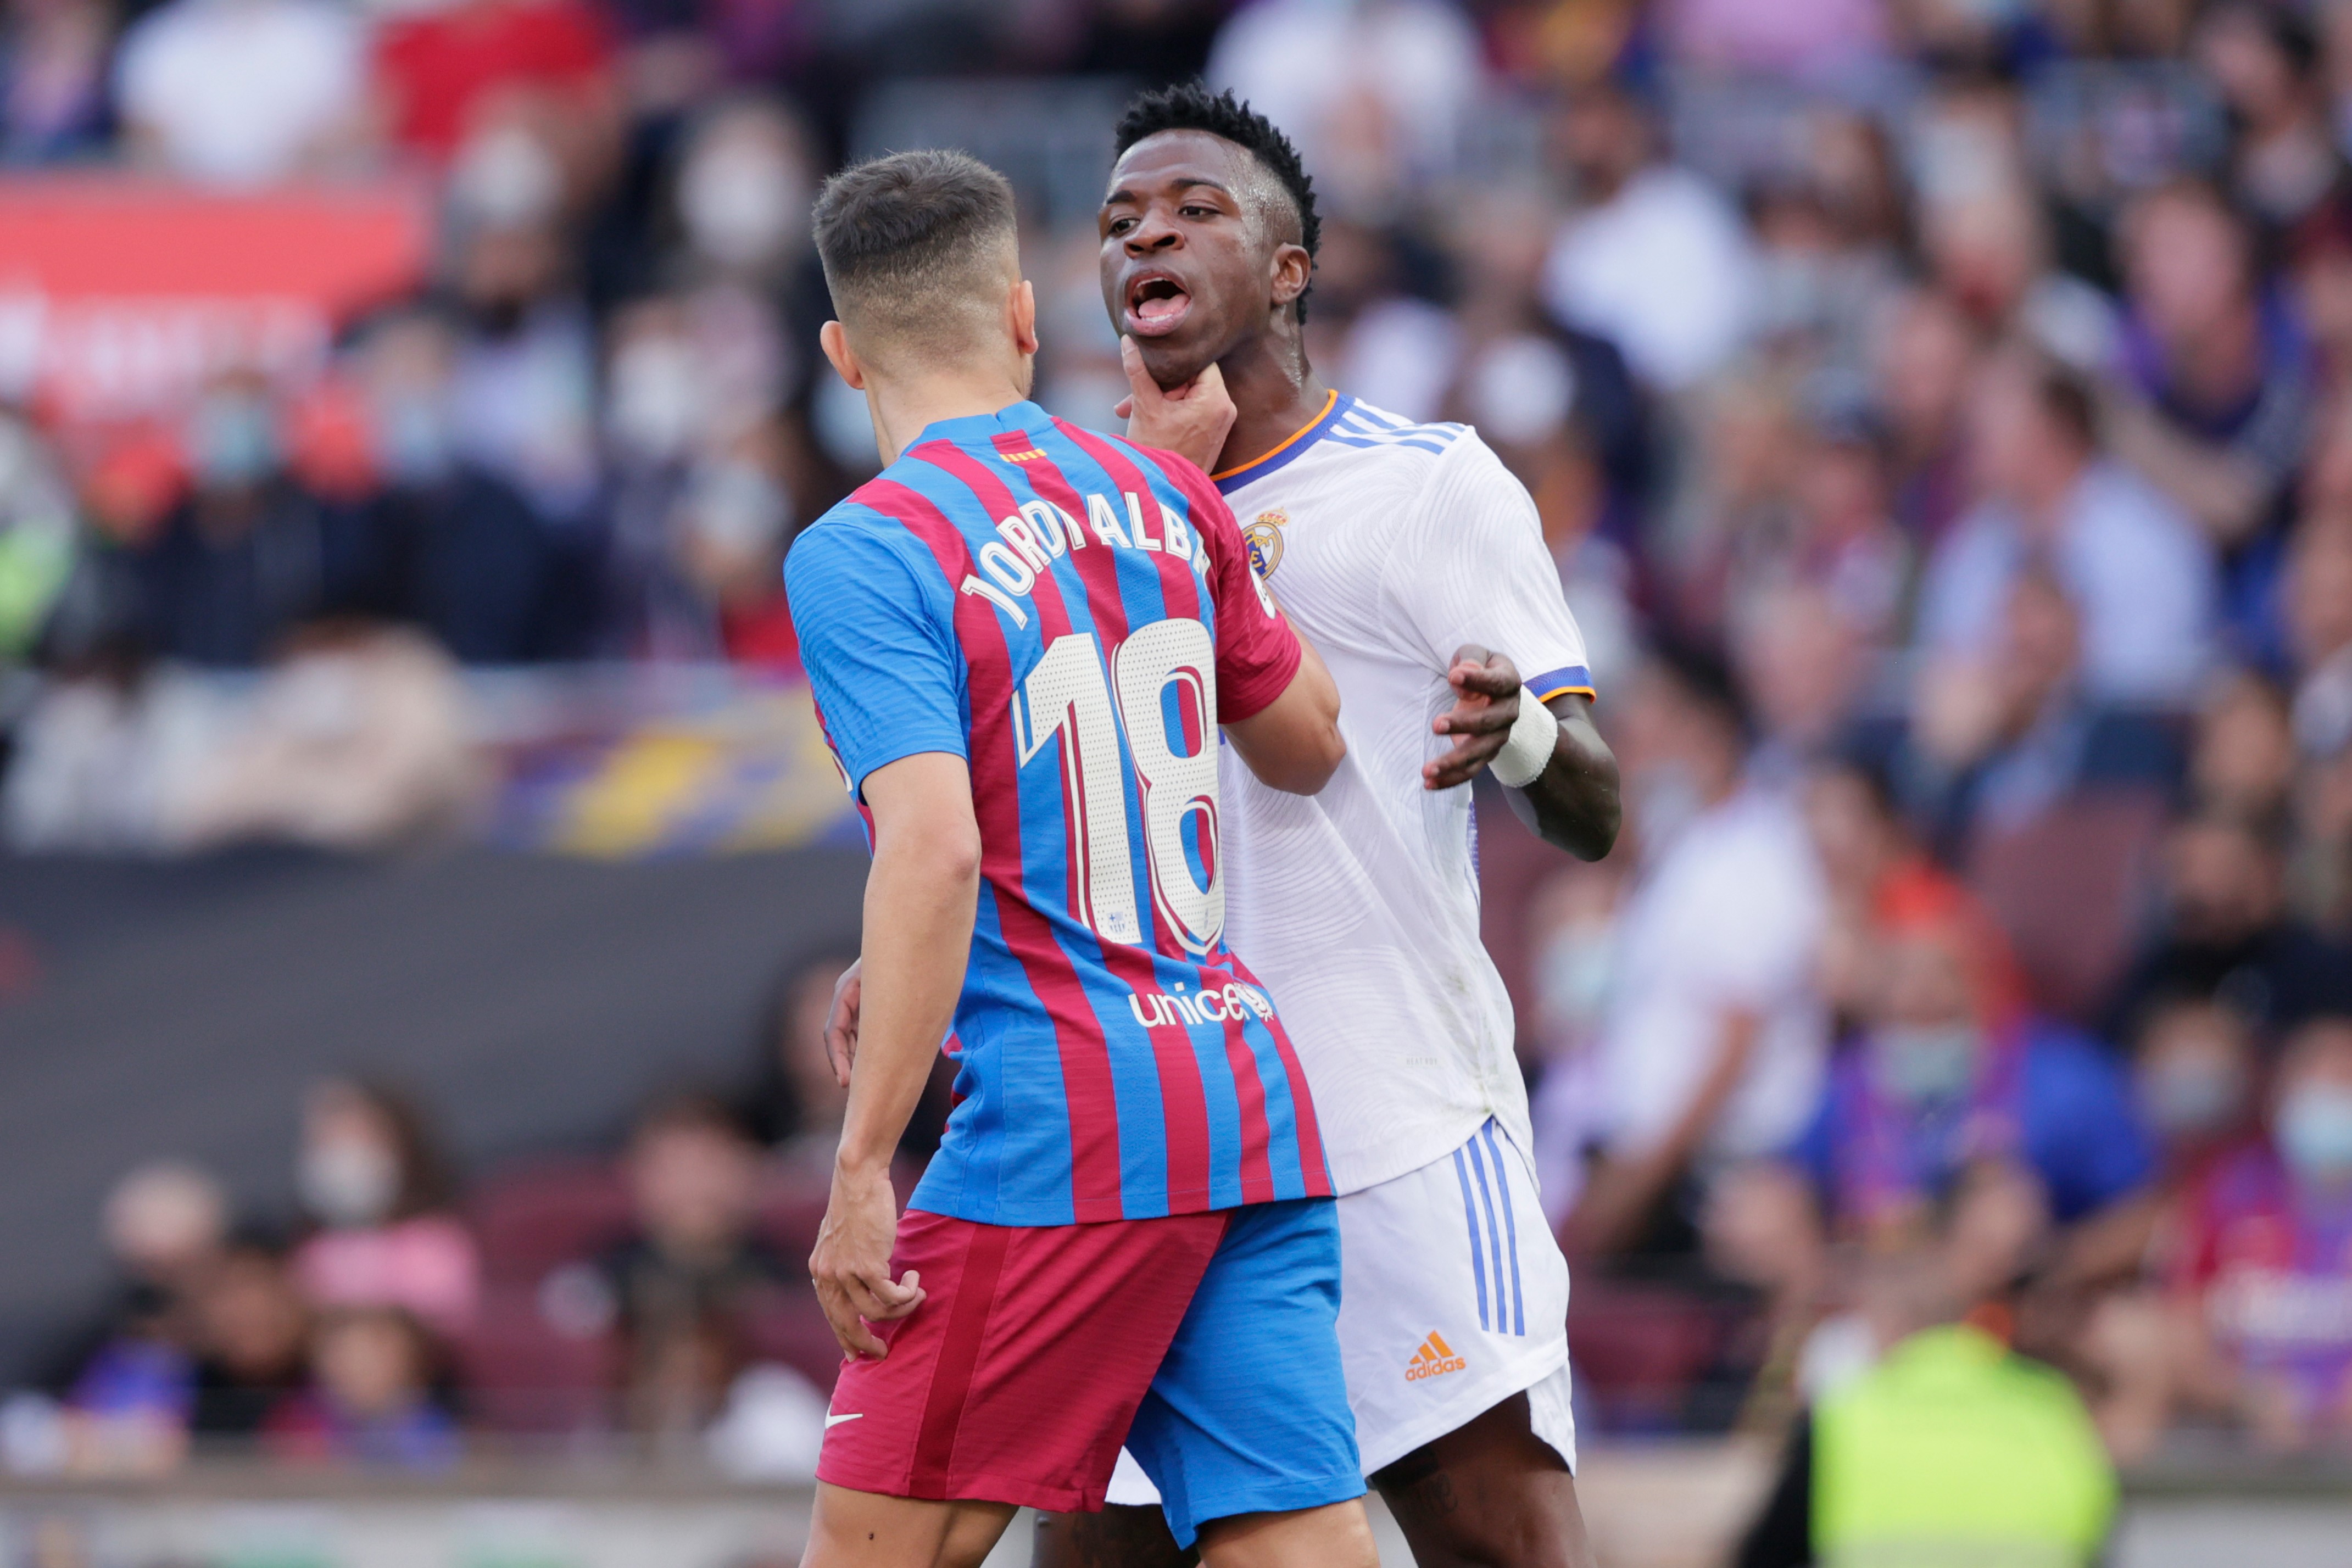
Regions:
<instances>
[{"instance_id":1,"label":"white football jersey with orange-and-blue collar trim and crest","mask_svg":"<svg viewBox=\"0 0 2352 1568\"><path fill-rule=\"evenodd\" d=\"M1428 790L1446 665L1508 654L1529 689L1590 691L1536 503L1468 425L1334 395L1218 475L1258 574L1338 682L1348 759L1322 795L1225 748L1225 936L1275 992L1331 1178L1357 1192L1458 1150L1486 1117L1529 1147L1503 978L1477 936L1470 788Z\"/></svg>"}]
</instances>

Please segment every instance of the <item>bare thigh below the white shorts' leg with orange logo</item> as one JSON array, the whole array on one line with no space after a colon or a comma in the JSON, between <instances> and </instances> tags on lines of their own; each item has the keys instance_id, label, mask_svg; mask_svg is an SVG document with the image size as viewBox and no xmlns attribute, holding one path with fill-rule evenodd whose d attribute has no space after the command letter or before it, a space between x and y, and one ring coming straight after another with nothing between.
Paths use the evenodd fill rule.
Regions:
<instances>
[{"instance_id":1,"label":"bare thigh below the white shorts' leg with orange logo","mask_svg":"<svg viewBox=\"0 0 2352 1568\"><path fill-rule=\"evenodd\" d=\"M1576 1479L1512 1394L1371 1476L1418 1568L1592 1568Z\"/></svg>"}]
</instances>

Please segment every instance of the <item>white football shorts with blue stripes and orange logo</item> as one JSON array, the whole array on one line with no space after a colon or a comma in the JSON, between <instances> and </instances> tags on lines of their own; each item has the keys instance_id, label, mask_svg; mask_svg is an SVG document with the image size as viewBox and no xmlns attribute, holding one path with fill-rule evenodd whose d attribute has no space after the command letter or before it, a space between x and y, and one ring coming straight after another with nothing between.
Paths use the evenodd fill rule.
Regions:
<instances>
[{"instance_id":1,"label":"white football shorts with blue stripes and orange logo","mask_svg":"<svg viewBox=\"0 0 2352 1568\"><path fill-rule=\"evenodd\" d=\"M1496 1121L1345 1194L1338 1237L1338 1349L1367 1476L1519 1392L1536 1436L1576 1469L1569 1260L1526 1152ZM1108 1502L1160 1502L1124 1448Z\"/></svg>"}]
</instances>

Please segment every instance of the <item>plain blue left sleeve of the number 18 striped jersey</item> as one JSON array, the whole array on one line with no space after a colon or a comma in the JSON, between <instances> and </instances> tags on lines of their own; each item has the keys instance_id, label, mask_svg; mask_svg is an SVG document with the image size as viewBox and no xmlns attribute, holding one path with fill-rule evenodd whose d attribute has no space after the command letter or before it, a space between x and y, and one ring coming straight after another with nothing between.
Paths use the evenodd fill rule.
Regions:
<instances>
[{"instance_id":1,"label":"plain blue left sleeve of the number 18 striped jersey","mask_svg":"<svg viewBox=\"0 0 2352 1568\"><path fill-rule=\"evenodd\" d=\"M969 757L955 611L884 529L818 520L783 562L816 717L861 799L866 776L901 757Z\"/></svg>"}]
</instances>

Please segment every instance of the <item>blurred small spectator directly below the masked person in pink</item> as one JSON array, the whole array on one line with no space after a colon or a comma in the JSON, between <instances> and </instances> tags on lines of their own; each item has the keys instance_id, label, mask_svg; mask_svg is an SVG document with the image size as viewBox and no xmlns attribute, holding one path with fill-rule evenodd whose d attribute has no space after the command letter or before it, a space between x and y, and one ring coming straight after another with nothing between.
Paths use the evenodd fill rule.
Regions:
<instances>
[{"instance_id":1,"label":"blurred small spectator directly below the masked person in pink","mask_svg":"<svg viewBox=\"0 0 2352 1568\"><path fill-rule=\"evenodd\" d=\"M263 1425L263 1443L294 1465L447 1469L456 1420L433 1394L433 1342L400 1307L334 1307L310 1331L310 1380Z\"/></svg>"}]
</instances>

